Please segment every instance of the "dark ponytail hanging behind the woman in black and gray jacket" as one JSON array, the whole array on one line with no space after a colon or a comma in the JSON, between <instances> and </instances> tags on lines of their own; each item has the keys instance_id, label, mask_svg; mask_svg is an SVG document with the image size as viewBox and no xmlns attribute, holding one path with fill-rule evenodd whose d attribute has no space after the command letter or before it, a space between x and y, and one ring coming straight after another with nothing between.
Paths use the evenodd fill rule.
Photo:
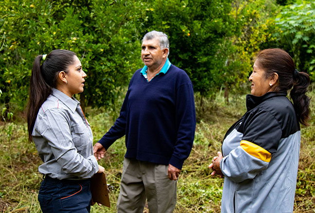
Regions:
<instances>
[{"instance_id":1,"label":"dark ponytail hanging behind the woman in black and gray jacket","mask_svg":"<svg viewBox=\"0 0 315 213\"><path fill-rule=\"evenodd\" d=\"M310 76L305 72L295 72L296 82L290 92L290 97L297 112L298 121L303 125L308 125L307 120L309 119L310 114L309 105L311 98L305 93L310 84Z\"/></svg>"}]
</instances>

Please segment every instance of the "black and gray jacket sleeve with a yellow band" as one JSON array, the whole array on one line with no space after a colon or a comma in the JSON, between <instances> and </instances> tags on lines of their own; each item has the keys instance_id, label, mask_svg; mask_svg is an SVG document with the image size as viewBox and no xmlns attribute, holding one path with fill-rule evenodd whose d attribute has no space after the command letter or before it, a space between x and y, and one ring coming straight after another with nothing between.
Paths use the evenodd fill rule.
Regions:
<instances>
[{"instance_id":1,"label":"black and gray jacket sleeve with a yellow band","mask_svg":"<svg viewBox=\"0 0 315 213\"><path fill-rule=\"evenodd\" d=\"M280 124L268 111L256 110L244 119L240 145L220 162L222 173L234 182L253 179L268 168L282 135Z\"/></svg>"}]
</instances>

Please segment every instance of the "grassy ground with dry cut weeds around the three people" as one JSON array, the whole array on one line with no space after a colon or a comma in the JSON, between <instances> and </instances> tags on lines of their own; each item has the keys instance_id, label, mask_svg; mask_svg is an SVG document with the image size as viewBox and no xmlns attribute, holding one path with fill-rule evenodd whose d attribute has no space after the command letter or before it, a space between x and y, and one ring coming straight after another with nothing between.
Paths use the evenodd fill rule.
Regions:
<instances>
[{"instance_id":1,"label":"grassy ground with dry cut weeds around the three people","mask_svg":"<svg viewBox=\"0 0 315 213\"><path fill-rule=\"evenodd\" d=\"M315 93L310 93L315 96ZM228 127L245 112L245 96L234 96L226 105L221 95L215 101L196 98L198 124L192 153L185 161L178 181L175 213L218 213L223 179L211 177L208 165L217 151ZM315 109L315 100L311 108ZM88 108L94 142L113 124L102 110ZM313 115L313 112L312 112ZM17 115L16 115L17 116ZM19 117L19 116L18 116ZM21 116L22 117L22 116ZM312 116L313 117L313 116ZM302 127L300 162L294 213L315 213L315 119ZM7 137L12 126L11 138ZM27 126L23 119L0 123L0 213L40 213L37 192L42 176L37 167L40 159L34 144L27 142ZM93 206L92 213L115 213L122 175L124 138L115 142L100 164L105 167L107 182L115 187L110 194L112 207ZM145 210L145 212L148 212Z\"/></svg>"}]
</instances>

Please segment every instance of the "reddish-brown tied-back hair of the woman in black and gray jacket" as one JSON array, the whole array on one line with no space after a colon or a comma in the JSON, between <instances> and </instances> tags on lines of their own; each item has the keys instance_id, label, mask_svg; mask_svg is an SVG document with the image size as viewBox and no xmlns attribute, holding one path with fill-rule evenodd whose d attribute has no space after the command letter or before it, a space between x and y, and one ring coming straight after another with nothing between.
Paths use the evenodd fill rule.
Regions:
<instances>
[{"instance_id":1,"label":"reddish-brown tied-back hair of the woman in black and gray jacket","mask_svg":"<svg viewBox=\"0 0 315 213\"><path fill-rule=\"evenodd\" d=\"M291 89L290 97L297 114L298 121L308 125L311 98L305 93L310 84L310 76L306 72L298 72L291 56L281 49L262 50L257 55L257 66L265 71L265 78L273 73L279 76L279 85L275 91Z\"/></svg>"}]
</instances>

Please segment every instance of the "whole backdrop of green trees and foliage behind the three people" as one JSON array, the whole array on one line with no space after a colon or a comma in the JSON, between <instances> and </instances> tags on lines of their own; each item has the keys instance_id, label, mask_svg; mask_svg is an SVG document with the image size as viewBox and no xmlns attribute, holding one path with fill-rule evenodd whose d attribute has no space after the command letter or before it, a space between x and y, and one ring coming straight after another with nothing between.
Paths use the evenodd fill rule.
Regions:
<instances>
[{"instance_id":1,"label":"whole backdrop of green trees and foliage behind the three people","mask_svg":"<svg viewBox=\"0 0 315 213\"><path fill-rule=\"evenodd\" d=\"M77 53L87 72L81 101L110 106L123 96L140 60L142 36L165 32L170 60L201 96L239 91L261 49L279 47L314 80L314 2L297 0L2 0L0 101L23 109L35 56ZM281 11L282 10L282 11ZM278 15L277 18L275 18Z\"/></svg>"}]
</instances>

